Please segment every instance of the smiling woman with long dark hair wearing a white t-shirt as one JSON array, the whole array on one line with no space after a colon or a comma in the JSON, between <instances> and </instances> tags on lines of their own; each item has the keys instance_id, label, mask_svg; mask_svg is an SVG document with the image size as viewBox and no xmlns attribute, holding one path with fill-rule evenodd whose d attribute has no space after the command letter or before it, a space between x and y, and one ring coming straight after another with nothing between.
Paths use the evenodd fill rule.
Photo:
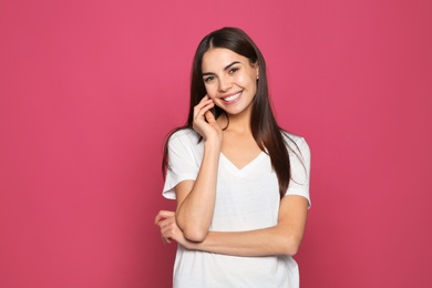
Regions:
<instances>
[{"instance_id":1,"label":"smiling woman with long dark hair wearing a white t-shirt","mask_svg":"<svg viewBox=\"0 0 432 288\"><path fill-rule=\"evenodd\" d=\"M174 287L299 287L291 258L309 199L310 152L271 112L266 63L241 30L196 51L185 126L165 144L163 195L176 212L155 223L178 243Z\"/></svg>"}]
</instances>

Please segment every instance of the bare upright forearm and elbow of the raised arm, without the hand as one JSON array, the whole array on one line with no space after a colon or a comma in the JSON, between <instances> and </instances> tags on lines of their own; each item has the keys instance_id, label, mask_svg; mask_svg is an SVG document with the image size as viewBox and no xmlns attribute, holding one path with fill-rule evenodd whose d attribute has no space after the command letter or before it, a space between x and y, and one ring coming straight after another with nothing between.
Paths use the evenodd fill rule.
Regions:
<instances>
[{"instance_id":1,"label":"bare upright forearm and elbow of the raised arm, without the hand","mask_svg":"<svg viewBox=\"0 0 432 288\"><path fill-rule=\"evenodd\" d=\"M206 237L213 219L219 155L218 143L205 143L197 178L177 208L178 227L186 238L194 241L200 241Z\"/></svg>"}]
</instances>

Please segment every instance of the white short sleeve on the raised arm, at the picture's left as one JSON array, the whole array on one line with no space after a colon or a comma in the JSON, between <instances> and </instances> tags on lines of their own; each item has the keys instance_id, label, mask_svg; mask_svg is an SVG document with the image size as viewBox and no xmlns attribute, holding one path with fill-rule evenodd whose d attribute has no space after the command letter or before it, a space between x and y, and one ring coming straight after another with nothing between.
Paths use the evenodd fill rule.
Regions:
<instances>
[{"instance_id":1,"label":"white short sleeve on the raised arm, at the picture's left","mask_svg":"<svg viewBox=\"0 0 432 288\"><path fill-rule=\"evenodd\" d=\"M194 132L178 131L168 141L168 168L163 196L175 199L175 186L182 181L195 181L199 166L197 162L197 137Z\"/></svg>"}]
</instances>

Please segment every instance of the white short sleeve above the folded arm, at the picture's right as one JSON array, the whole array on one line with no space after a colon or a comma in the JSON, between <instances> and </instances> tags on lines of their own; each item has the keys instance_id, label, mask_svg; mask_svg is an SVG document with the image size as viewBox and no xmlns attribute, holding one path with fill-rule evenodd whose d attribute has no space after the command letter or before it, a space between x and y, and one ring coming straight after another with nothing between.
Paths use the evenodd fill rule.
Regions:
<instances>
[{"instance_id":1,"label":"white short sleeve above the folded arm, at the picture's right","mask_svg":"<svg viewBox=\"0 0 432 288\"><path fill-rule=\"evenodd\" d=\"M299 195L304 196L311 206L309 195L309 181L310 181L310 150L309 145L304 137L289 137L288 151L289 162L291 165L291 179L289 182L288 191L286 195Z\"/></svg>"}]
</instances>

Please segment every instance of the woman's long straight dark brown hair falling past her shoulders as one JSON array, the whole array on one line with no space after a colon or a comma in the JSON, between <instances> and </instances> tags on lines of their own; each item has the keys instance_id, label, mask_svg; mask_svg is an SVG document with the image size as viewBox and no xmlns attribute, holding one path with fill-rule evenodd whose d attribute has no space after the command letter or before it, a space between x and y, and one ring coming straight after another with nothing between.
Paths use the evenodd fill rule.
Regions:
<instances>
[{"instance_id":1,"label":"woman's long straight dark brown hair falling past her shoulders","mask_svg":"<svg viewBox=\"0 0 432 288\"><path fill-rule=\"evenodd\" d=\"M259 76L257 92L253 101L250 127L253 136L261 151L265 151L271 160L271 166L276 172L279 182L280 198L288 189L291 178L289 153L282 136L282 130L276 122L271 111L268 96L266 62L258 47L254 41L238 28L223 28L206 35L199 43L192 66L191 78L191 103L186 124L168 133L164 144L164 156L162 162L163 175L166 175L168 167L168 140L171 135L182 128L192 128L194 121L194 107L206 95L203 81L203 56L212 48L225 48L240 54L249 60L251 64L258 63ZM225 113L220 107L215 106L215 116Z\"/></svg>"}]
</instances>

